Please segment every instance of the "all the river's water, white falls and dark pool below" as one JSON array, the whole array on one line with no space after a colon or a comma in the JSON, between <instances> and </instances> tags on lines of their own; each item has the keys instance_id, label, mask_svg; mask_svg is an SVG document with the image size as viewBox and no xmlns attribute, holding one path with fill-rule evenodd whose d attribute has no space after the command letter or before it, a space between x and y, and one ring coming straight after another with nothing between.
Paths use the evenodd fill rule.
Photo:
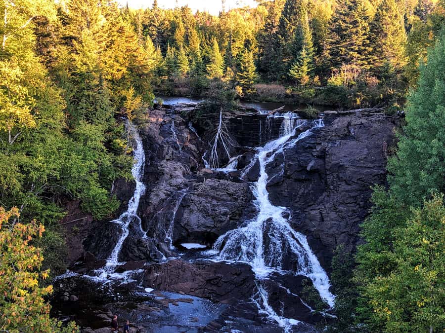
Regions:
<instances>
[{"instance_id":1,"label":"all the river's water, white falls and dark pool below","mask_svg":"<svg viewBox=\"0 0 445 333\"><path fill-rule=\"evenodd\" d=\"M197 102L183 98L163 97L163 99L166 104ZM244 105L259 108L255 104L245 103ZM261 108L264 107L270 109L277 105L262 104ZM289 107L289 110L292 108ZM281 115L272 116L280 117ZM221 117L220 114L220 127L222 126ZM309 128L297 132L297 129L303 125L308 125ZM285 263L285 261L289 261L289 258L284 260L283 248L286 248L286 256L291 256L291 259L298 263L299 269L293 273L312 280L314 288L329 307L333 306L335 296L329 291L328 276L312 253L306 236L290 226L288 209L274 206L270 202L267 192L269 179L267 164L273 162L278 153L298 145L300 140L311 135L314 130L323 127L322 120L298 119L296 121L296 118L290 118L287 115L283 117L279 137L267 142L263 147L256 148L256 155L252 161L257 161L260 171L258 180L251 184L255 197L254 205L257 208L255 219L241 222L237 229L227 231L218 238L213 249L205 249L206 247L201 244L181 244L183 248L181 252L184 253L183 259L187 258L187 251L190 251L193 255L189 260L241 262L248 263L252 267L257 292L252 295L250 301L245 304L236 304L236 306L195 296L143 288L141 286L141 276L143 275L141 269L124 273L116 272L116 268L123 264L118 259L122 244L129 235L130 224L132 222L138 224L141 237L147 237L137 215L139 201L145 194L145 185L142 181L145 152L142 140L134 125L128 123L127 126L129 126L135 143L135 163L132 175L136 186L127 211L118 219L110 222L121 228L120 238L102 268L91 270L85 275L66 274L55 280L56 296L52 301L52 315L59 318L75 319L79 325L91 329L103 327L108 323L113 313L119 313L121 317L129 319L139 327L142 332L144 330L146 330L145 332L211 332L206 330L258 333L316 332L313 326L294 318L286 318L269 304L269 295L264 281L267 281L272 273L283 274L285 272L289 274L289 268ZM172 131L176 136L174 121L172 122ZM217 139L215 139L215 144ZM245 167L242 175L253 166L253 162ZM229 168L230 170L236 169L237 165L230 163ZM216 167L214 170L225 172L228 169ZM177 195L178 202L166 236L166 241L171 248L174 248L172 239L176 210L186 194L187 189L184 189ZM168 259L165 258L165 260ZM286 286L282 287L286 288ZM94 296L91 297L91 295ZM82 301L69 303L68 306L61 301L66 301L66 298L71 299L71 296L82 298ZM301 301L303 302L303 300ZM309 305L304 302L303 304L313 311ZM328 309L326 315L329 317L327 312Z\"/></svg>"}]
</instances>

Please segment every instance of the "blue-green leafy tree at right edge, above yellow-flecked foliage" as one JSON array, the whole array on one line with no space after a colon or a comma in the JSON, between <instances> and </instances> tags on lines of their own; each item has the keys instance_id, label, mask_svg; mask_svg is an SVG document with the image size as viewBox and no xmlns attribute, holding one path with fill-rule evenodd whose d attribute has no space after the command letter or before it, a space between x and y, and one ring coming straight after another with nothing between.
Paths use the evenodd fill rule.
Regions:
<instances>
[{"instance_id":1,"label":"blue-green leafy tree at right edge, above yellow-flecked foliage","mask_svg":"<svg viewBox=\"0 0 445 333\"><path fill-rule=\"evenodd\" d=\"M408 205L418 205L431 191L445 191L445 34L421 65L417 90L409 96L406 126L397 157L388 170L392 191Z\"/></svg>"}]
</instances>

